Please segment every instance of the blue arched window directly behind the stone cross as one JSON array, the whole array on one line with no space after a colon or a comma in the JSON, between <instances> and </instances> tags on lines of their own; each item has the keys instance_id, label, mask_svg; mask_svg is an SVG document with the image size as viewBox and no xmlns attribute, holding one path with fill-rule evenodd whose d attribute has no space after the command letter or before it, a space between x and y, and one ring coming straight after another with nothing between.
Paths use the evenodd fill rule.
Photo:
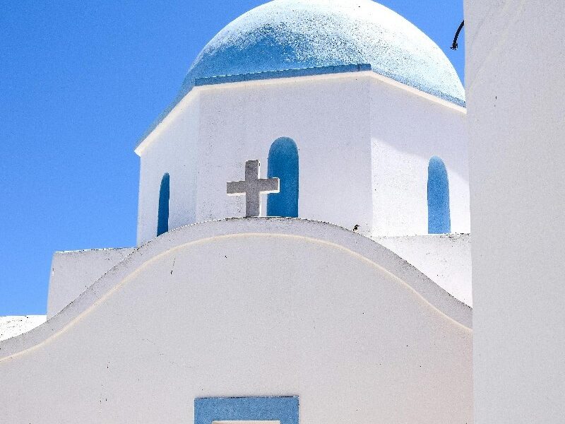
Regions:
<instances>
[{"instance_id":1,"label":"blue arched window directly behind the stone cross","mask_svg":"<svg viewBox=\"0 0 565 424\"><path fill-rule=\"evenodd\" d=\"M280 179L280 192L268 195L268 216L298 216L298 149L287 137L273 141L269 149L268 177Z\"/></svg>"}]
</instances>

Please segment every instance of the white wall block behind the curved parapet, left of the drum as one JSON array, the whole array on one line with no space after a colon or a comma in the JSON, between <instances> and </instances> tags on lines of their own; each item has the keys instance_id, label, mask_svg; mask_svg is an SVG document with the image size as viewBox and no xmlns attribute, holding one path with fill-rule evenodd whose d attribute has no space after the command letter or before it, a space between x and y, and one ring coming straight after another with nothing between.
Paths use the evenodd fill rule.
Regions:
<instances>
[{"instance_id":1,"label":"white wall block behind the curved parapet, left of the drum","mask_svg":"<svg viewBox=\"0 0 565 424\"><path fill-rule=\"evenodd\" d=\"M129 248L55 252L49 277L47 319L78 298L78 295L131 252L133 249Z\"/></svg>"}]
</instances>

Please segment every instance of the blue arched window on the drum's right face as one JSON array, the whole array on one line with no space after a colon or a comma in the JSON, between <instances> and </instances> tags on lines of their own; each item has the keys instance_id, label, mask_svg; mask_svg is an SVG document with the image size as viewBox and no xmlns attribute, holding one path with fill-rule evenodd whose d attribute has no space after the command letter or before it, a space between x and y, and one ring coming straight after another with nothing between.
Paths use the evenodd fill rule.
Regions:
<instances>
[{"instance_id":1,"label":"blue arched window on the drum's right face","mask_svg":"<svg viewBox=\"0 0 565 424\"><path fill-rule=\"evenodd\" d=\"M433 156L428 165L428 232L451 232L449 216L449 180L444 161Z\"/></svg>"}]
</instances>

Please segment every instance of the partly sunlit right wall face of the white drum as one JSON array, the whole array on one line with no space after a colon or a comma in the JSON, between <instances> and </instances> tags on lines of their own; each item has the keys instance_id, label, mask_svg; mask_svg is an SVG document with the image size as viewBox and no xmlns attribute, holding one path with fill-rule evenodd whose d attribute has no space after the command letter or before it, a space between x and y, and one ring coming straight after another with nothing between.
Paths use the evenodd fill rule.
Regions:
<instances>
[{"instance_id":1,"label":"partly sunlit right wall face of the white drum","mask_svg":"<svg viewBox=\"0 0 565 424\"><path fill-rule=\"evenodd\" d=\"M428 233L427 177L432 156L445 163L451 232L469 232L465 110L371 78L373 235Z\"/></svg>"}]
</instances>

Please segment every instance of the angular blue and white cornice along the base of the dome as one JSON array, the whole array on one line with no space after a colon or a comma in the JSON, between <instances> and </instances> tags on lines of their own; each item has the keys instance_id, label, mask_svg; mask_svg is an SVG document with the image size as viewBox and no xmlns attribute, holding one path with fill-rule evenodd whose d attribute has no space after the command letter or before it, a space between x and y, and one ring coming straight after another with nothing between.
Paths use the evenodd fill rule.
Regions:
<instances>
[{"instance_id":1,"label":"angular blue and white cornice along the base of the dome","mask_svg":"<svg viewBox=\"0 0 565 424\"><path fill-rule=\"evenodd\" d=\"M277 79L284 79L284 78L303 78L309 76L330 76L330 75L341 75L347 73L366 73L367 75L376 76L377 79L380 81L386 82L393 86L404 88L405 90L411 91L412 93L416 93L421 97L427 98L434 102L439 102L442 105L450 106L459 110L460 112L465 112L465 101L453 98L446 93L428 93L427 91L421 90L420 88L411 86L409 84L403 83L400 81L401 78L392 78L390 76L383 75L382 73L377 73L373 71L370 64L349 64L349 65L338 65L338 66L319 66L315 68L304 68L304 69L285 69L283 71L267 71L267 72L256 72L256 73L241 73L239 75L226 75L226 76L213 76L207 78L196 78L194 87L192 87L189 91L184 93L182 96L175 98L175 100L167 107L160 115L155 119L153 124L149 126L149 128L143 133L140 139L138 139L138 143L136 144L136 148L134 151L136 153L141 154L143 148L141 146L144 144L145 140L153 134L153 131L157 129L183 102L186 98L194 93L198 88L206 87L206 86L216 86L219 84L227 84L227 83L249 83L254 81L269 81L269 80L277 80Z\"/></svg>"}]
</instances>

